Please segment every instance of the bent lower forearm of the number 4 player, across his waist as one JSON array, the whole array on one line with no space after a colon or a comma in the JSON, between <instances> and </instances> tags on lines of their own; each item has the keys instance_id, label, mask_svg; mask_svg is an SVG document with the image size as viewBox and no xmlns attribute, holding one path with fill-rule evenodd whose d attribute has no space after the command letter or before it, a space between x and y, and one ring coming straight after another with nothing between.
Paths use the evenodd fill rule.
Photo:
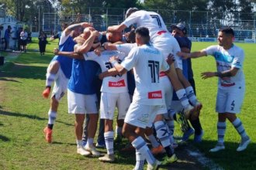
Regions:
<instances>
[{"instance_id":1,"label":"bent lower forearm of the number 4 player, across his waist","mask_svg":"<svg viewBox=\"0 0 256 170\"><path fill-rule=\"evenodd\" d=\"M207 79L207 78L210 78L210 77L213 77L213 76L219 76L220 78L229 77L229 76L236 76L238 70L239 70L239 68L232 67L230 70L226 70L226 71L204 72L204 73L201 73L201 76L202 76L202 79Z\"/></svg>"}]
</instances>

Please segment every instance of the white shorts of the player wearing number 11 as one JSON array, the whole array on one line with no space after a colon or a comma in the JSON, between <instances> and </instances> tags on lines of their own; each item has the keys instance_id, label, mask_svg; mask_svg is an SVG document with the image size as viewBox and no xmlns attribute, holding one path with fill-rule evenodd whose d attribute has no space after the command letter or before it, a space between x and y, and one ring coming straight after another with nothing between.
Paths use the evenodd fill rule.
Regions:
<instances>
[{"instance_id":1,"label":"white shorts of the player wearing number 11","mask_svg":"<svg viewBox=\"0 0 256 170\"><path fill-rule=\"evenodd\" d=\"M165 105L143 105L133 102L130 104L124 122L140 128L152 127L157 113L166 112Z\"/></svg>"}]
</instances>

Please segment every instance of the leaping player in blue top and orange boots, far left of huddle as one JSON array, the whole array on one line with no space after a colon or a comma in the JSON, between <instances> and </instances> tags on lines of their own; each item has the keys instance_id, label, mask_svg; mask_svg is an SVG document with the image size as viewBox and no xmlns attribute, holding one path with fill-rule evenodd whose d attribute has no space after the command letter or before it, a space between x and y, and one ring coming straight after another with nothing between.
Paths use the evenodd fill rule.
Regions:
<instances>
[{"instance_id":1,"label":"leaping player in blue top and orange boots, far left of huddle","mask_svg":"<svg viewBox=\"0 0 256 170\"><path fill-rule=\"evenodd\" d=\"M68 26L64 29L64 32L61 34L59 49L61 51L74 51L74 37L80 34L81 27L85 28L87 26L91 25L88 22L82 22L80 24ZM50 110L48 111L48 125L43 129L45 139L48 143L51 143L52 141L52 129L57 117L57 107L61 97L64 96L64 93L67 90L67 82L71 76L71 65L71 58L54 56L54 59L51 60L47 68L46 89L43 90L43 97L49 97L51 85L55 82L50 100Z\"/></svg>"}]
</instances>

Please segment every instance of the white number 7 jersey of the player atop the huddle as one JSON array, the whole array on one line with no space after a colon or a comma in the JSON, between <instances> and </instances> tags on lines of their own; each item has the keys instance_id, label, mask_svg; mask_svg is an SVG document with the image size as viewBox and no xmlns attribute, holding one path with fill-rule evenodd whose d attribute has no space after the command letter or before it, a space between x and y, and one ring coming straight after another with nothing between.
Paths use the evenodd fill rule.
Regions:
<instances>
[{"instance_id":1,"label":"white number 7 jersey of the player atop the huddle","mask_svg":"<svg viewBox=\"0 0 256 170\"><path fill-rule=\"evenodd\" d=\"M133 12L126 20L123 21L122 24L129 27L134 23L137 24L137 27L147 27L150 32L150 40L152 42L154 42L154 38L157 34L161 34L161 32L168 32L161 15L156 12L147 12L144 10Z\"/></svg>"}]
</instances>

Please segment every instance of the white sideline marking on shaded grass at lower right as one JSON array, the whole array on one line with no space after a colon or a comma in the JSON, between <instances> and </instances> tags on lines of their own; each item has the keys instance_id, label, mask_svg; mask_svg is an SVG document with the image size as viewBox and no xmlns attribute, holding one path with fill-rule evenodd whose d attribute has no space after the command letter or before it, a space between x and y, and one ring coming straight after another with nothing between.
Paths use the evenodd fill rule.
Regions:
<instances>
[{"instance_id":1,"label":"white sideline marking on shaded grass at lower right","mask_svg":"<svg viewBox=\"0 0 256 170\"><path fill-rule=\"evenodd\" d=\"M211 159L206 158L205 155L203 155L199 150L191 151L189 149L186 149L189 152L189 155L192 155L192 157L196 158L198 162L203 167L209 168L209 169L216 169L216 170L223 170L220 165L217 165L215 162L213 162Z\"/></svg>"}]
</instances>

